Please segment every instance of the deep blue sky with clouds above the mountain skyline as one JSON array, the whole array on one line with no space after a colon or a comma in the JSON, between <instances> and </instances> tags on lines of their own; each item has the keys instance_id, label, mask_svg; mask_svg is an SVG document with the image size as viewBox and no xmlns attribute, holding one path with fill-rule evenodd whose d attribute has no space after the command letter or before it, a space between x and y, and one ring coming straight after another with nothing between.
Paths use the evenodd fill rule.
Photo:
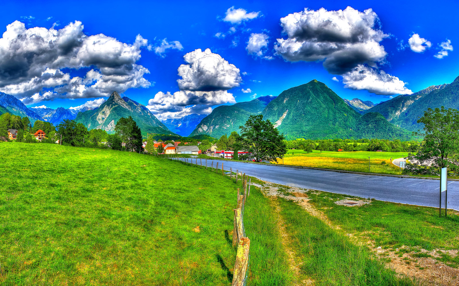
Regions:
<instances>
[{"instance_id":1,"label":"deep blue sky with clouds above the mountain skyline","mask_svg":"<svg viewBox=\"0 0 459 286\"><path fill-rule=\"evenodd\" d=\"M289 48L287 41L293 39L295 33L303 33L294 39L295 43L303 43L304 47L308 43L317 43L314 36L305 35L316 33L321 37L324 33L321 28L314 28L314 23L331 15L324 11L320 14L318 10L325 8L332 12L344 10L347 6L356 10L354 14L346 14L352 14L349 17L354 17L354 20L356 16L364 15L364 11L369 8L373 12L371 14L367 11L365 14L370 20L362 16L367 22L374 21L374 25L367 23L369 26L363 28L364 35L371 34L365 44L344 43L347 47L345 49L353 50L354 54L349 57L366 53L364 59L355 60L347 66L347 70L336 70L334 67L341 65L339 61L343 59L338 60L336 54L327 54L322 48L318 54L313 55L312 49L306 48L296 53L283 50L282 54L283 46L276 39L282 38L286 41L285 49ZM94 56L78 46L78 56L69 57L56 65L56 61L61 59L58 55L62 52L53 50L57 48L52 45L39 51L34 49L32 54L37 57L36 65L18 65L17 62L29 59L27 57L31 53L21 52L21 43L14 40L14 37L18 37L16 34L8 40L4 36L3 47L0 48L4 54L0 59L0 91L13 94L29 107L77 107L88 101L106 99L112 88L112 91L122 92L122 96L149 105L153 113L164 119L192 112L208 113L219 104L251 100L254 94L256 97L277 96L285 89L313 79L324 82L340 97L358 97L379 103L391 96L397 96L397 91L417 92L427 86L449 83L459 76L459 58L457 51L453 49L459 43L456 31L458 23L455 20L458 4L454 1L443 1L442 5L432 5L431 1L378 1L371 4L369 1L213 1L198 4L190 1L91 1L78 4L62 1L9 1L2 4L2 8L3 11L8 11L0 19L2 33L6 31L7 25L15 21L22 22L26 30L43 27L48 31L51 27L58 31L69 23L79 21L84 26L83 34L79 38L74 36L75 38L83 41L93 36L97 41L106 41L102 49L107 49L108 52L102 50ZM292 13L297 13L295 15L301 18L300 13L305 8L309 10L308 15L303 13L302 19L305 22L284 18ZM332 15L331 22L344 14L337 12L334 15L336 18ZM281 27L281 18L285 19L284 26L290 25L292 35L283 33L286 30ZM347 28L347 20L336 20L333 24L336 29ZM74 25L74 31L80 27L77 26ZM11 30L14 27L15 31L20 29L17 22L10 27ZM307 31L308 29L313 31ZM42 32L44 31L38 33ZM21 33L26 32L17 32L18 35ZM33 35L32 30L27 33L29 37ZM216 37L217 33L220 33L219 38ZM99 34L103 36L97 36ZM224 38L221 37L222 34L225 35ZM259 45L252 45L252 49L249 49L247 42L252 34L261 37L261 50L256 49ZM67 40L73 37L72 33L68 35ZM409 38L413 41L411 46ZM161 44L163 43L162 48L167 47L164 46L166 42L163 39L166 39L169 48L161 53ZM113 41L116 41L114 45ZM333 42L330 38L325 41L330 47L336 48L336 43L330 43ZM444 43L443 48L441 43ZM124 54L125 59L118 58L116 49L112 49L117 44L126 49L124 52L128 55ZM30 46L30 43L24 42L22 45ZM370 48L376 49L375 54L368 52ZM11 49L11 54L6 53L8 49ZM202 49L202 52L210 49L212 54L200 54L206 54L221 64L221 81L209 80L207 77L210 74L202 74L199 67L193 67L194 62L184 61L187 53L194 59L197 55L194 52L196 49ZM345 49L341 52L347 53ZM441 59L434 57L442 50L443 54L447 52L448 55ZM253 53L249 54L250 51ZM381 51L384 52L382 56ZM56 56L52 57L50 54ZM18 57L22 57L21 60L17 60ZM38 62L39 57L41 58ZM314 57L318 59L313 60ZM297 59L302 60L296 61ZM324 60L327 67L324 66ZM328 62L333 68L328 66ZM187 78L178 75L180 65L186 65L187 70L184 72L187 73ZM18 70L16 76L11 76L15 75L14 69ZM44 69L48 71L45 72ZM94 70L94 73L88 73L90 70ZM381 84L359 81L356 76L363 72L361 70L366 72L367 81L371 81L373 75L375 81L381 81ZM381 70L385 72L382 76ZM332 80L333 77L338 81ZM393 77L398 79L394 80ZM78 85L75 84L77 78L80 80ZM177 82L179 79L184 80L181 85ZM382 82L388 79L393 82L384 85ZM98 83L98 80L101 81ZM352 89L346 88L343 80ZM242 89L250 89L251 92L244 93ZM162 93L157 95L158 92ZM150 99L154 100L149 104ZM100 103L101 100L91 104Z\"/></svg>"}]
</instances>

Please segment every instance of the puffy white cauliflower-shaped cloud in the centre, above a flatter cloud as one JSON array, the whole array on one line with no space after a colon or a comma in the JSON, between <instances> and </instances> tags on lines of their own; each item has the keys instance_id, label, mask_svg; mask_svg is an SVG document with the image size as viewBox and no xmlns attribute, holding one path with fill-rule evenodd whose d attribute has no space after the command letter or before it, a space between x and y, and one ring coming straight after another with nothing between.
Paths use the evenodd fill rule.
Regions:
<instances>
[{"instance_id":1,"label":"puffy white cauliflower-shaped cloud in the centre, above a flatter cloud","mask_svg":"<svg viewBox=\"0 0 459 286\"><path fill-rule=\"evenodd\" d=\"M240 70L210 49L204 52L196 49L183 58L188 64L180 65L178 69L182 77L177 80L180 90L228 90L241 82Z\"/></svg>"}]
</instances>

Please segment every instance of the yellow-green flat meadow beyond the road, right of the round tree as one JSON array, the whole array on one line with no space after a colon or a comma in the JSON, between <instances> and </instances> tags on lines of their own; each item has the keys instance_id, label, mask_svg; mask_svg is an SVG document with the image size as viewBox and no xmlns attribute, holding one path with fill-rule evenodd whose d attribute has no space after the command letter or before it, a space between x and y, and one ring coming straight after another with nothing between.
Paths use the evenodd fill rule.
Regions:
<instances>
[{"instance_id":1,"label":"yellow-green flat meadow beyond the road, right of the round tree","mask_svg":"<svg viewBox=\"0 0 459 286\"><path fill-rule=\"evenodd\" d=\"M391 163L391 158L393 160L408 156L407 152L322 151L320 153L320 151L314 150L313 153L306 154L302 150L293 151L301 151L301 153L286 155L283 159L278 159L277 164L353 172L369 172L370 165L371 173L399 175L402 172L399 167Z\"/></svg>"}]
</instances>

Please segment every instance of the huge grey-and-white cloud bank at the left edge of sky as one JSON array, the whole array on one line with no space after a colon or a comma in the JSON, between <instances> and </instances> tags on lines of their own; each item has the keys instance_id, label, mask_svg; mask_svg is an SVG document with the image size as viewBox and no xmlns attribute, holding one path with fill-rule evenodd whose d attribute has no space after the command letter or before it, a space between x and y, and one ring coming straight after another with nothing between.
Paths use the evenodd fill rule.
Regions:
<instances>
[{"instance_id":1,"label":"huge grey-and-white cloud bank at the left edge of sky","mask_svg":"<svg viewBox=\"0 0 459 286\"><path fill-rule=\"evenodd\" d=\"M85 35L83 28L79 21L59 30L26 29L19 21L8 25L0 38L0 90L32 104L151 86L143 77L149 71L136 64L146 39L137 35L127 44L104 34ZM71 76L65 68L88 71Z\"/></svg>"}]
</instances>

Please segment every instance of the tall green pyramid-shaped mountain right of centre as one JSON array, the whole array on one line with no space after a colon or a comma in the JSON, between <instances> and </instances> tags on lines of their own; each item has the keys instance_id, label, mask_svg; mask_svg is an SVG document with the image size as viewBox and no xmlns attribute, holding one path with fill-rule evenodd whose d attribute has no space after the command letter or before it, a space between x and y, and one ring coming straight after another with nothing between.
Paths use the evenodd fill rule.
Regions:
<instances>
[{"instance_id":1,"label":"tall green pyramid-shaped mountain right of centre","mask_svg":"<svg viewBox=\"0 0 459 286\"><path fill-rule=\"evenodd\" d=\"M348 138L360 118L341 97L316 80L281 92L262 114L287 139Z\"/></svg>"}]
</instances>

